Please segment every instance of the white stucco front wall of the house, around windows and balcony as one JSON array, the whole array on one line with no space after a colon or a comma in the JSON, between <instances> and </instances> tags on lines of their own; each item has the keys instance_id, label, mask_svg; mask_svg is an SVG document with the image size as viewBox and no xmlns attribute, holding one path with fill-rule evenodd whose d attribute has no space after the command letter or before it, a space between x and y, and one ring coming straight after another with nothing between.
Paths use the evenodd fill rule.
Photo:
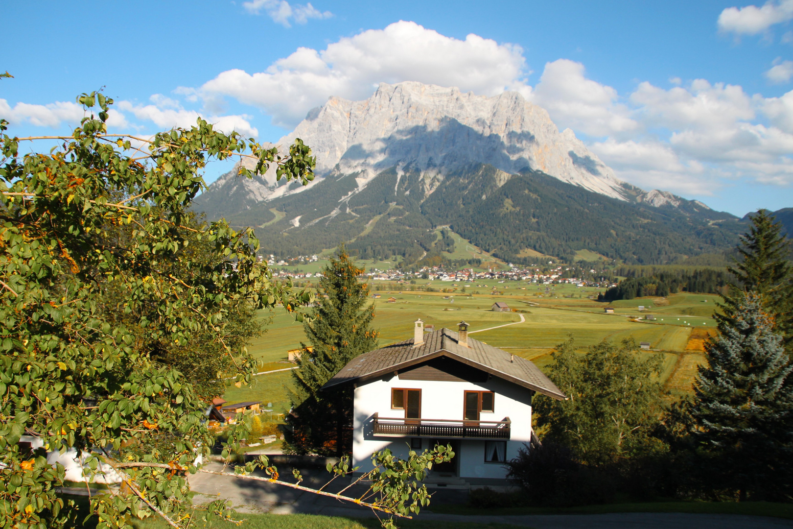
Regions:
<instances>
[{"instance_id":1,"label":"white stucco front wall of the house, around windows and balcony","mask_svg":"<svg viewBox=\"0 0 793 529\"><path fill-rule=\"evenodd\" d=\"M408 455L409 437L383 437L373 435L372 418L404 417L404 411L391 409L391 389L421 389L421 417L425 420L462 420L463 396L465 391L492 391L496 393L494 411L482 412L480 420L511 420L511 435L507 442L507 460L515 458L523 443L531 440L531 390L500 378L487 382L400 380L389 375L368 381L354 391L353 461L361 466L359 471L371 469L370 456L374 451L388 447L400 458ZM423 448L428 448L430 439L423 439ZM507 470L496 463L485 463L485 441L458 439L460 443L458 472L460 477L504 478Z\"/></svg>"}]
</instances>

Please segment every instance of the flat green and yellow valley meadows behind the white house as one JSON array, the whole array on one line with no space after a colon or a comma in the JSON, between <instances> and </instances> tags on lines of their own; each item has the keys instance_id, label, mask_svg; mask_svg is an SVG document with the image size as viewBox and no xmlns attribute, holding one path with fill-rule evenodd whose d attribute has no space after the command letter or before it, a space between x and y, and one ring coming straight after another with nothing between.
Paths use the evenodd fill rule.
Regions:
<instances>
[{"instance_id":1,"label":"flat green and yellow valley meadows behind the white house","mask_svg":"<svg viewBox=\"0 0 793 529\"><path fill-rule=\"evenodd\" d=\"M680 293L666 298L642 298L605 305L585 297L596 292L595 289L582 292L584 289L569 285L556 285L546 293L545 285L531 285L523 290L520 286L515 289L513 284L496 281L433 283L434 287L446 285L443 288L457 288L458 292L384 291L380 293L381 297L371 301L375 306L374 328L380 331L379 345L411 338L413 322L418 318L425 324L435 325L435 328L451 329L456 329L458 322L465 320L472 338L502 347L546 370L552 362L551 351L569 335L573 335L580 352L603 339L619 341L632 337L637 342L649 342L651 349L656 350L646 354L664 356L660 380L665 382L674 397L691 390L696 368L704 361L703 339L715 327L709 315L692 316L685 312L712 311L718 299L716 296ZM463 287L471 293L473 290L486 292L492 286L497 287L496 292L505 294L459 293ZM542 297L534 293L542 293ZM582 297L565 297L571 295ZM396 298L396 301L389 303L389 297ZM505 301L511 309L520 312L492 312L490 307L494 301ZM645 305L649 311L639 312L639 305ZM614 307L615 314L604 313L604 306ZM672 316L668 316L670 312L661 310L671 310ZM647 313L655 315L657 320L636 319ZM523 322L520 321L521 316ZM262 320L271 320L271 323L266 326L266 333L248 346L248 351L261 362L262 370L293 366L286 361L286 351L300 347L301 340L305 341L302 324L278 310L271 314L262 312L261 317ZM502 325L506 326L500 327ZM260 375L257 379L259 383L255 388L232 386L224 398L229 402L272 402L273 408L280 412L289 408L286 393L286 387L291 384L289 371Z\"/></svg>"}]
</instances>

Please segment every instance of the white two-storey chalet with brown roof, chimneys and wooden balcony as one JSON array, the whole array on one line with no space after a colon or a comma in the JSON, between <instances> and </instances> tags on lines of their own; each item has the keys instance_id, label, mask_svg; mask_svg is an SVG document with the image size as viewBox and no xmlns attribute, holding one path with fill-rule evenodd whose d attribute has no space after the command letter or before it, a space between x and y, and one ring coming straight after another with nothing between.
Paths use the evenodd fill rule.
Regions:
<instances>
[{"instance_id":1,"label":"white two-storey chalet with brown roof, chimneys and wooden balcony","mask_svg":"<svg viewBox=\"0 0 793 529\"><path fill-rule=\"evenodd\" d=\"M325 388L354 387L353 463L370 455L450 443L455 457L433 468L436 479L500 485L504 463L531 443L531 397L565 395L532 362L468 337L468 324L424 333L354 358Z\"/></svg>"}]
</instances>

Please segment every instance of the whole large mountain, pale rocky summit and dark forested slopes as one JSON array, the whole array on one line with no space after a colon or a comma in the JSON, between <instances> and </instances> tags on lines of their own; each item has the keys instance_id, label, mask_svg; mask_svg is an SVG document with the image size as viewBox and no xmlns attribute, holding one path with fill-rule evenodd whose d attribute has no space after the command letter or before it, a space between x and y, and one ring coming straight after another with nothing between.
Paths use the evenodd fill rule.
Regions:
<instances>
[{"instance_id":1,"label":"whole large mountain, pale rocky summit and dark forested slopes","mask_svg":"<svg viewBox=\"0 0 793 529\"><path fill-rule=\"evenodd\" d=\"M197 209L255 227L265 254L347 242L363 259L401 256L403 266L437 261L454 244L450 231L511 263L600 255L704 264L745 230L745 220L702 202L620 181L515 92L381 84L366 101L330 98L278 145L296 137L317 158L308 186L277 182L273 169L251 179L235 169Z\"/></svg>"}]
</instances>

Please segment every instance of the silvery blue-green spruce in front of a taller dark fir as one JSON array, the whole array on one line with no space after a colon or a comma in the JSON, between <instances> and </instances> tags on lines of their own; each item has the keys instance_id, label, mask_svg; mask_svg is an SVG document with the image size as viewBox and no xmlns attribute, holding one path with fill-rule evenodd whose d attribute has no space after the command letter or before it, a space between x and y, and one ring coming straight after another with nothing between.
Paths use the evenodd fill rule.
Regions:
<instances>
[{"instance_id":1,"label":"silvery blue-green spruce in front of a taller dark fir","mask_svg":"<svg viewBox=\"0 0 793 529\"><path fill-rule=\"evenodd\" d=\"M737 293L734 313L705 344L691 417L715 489L741 500L791 499L793 385L790 359L762 295Z\"/></svg>"}]
</instances>

